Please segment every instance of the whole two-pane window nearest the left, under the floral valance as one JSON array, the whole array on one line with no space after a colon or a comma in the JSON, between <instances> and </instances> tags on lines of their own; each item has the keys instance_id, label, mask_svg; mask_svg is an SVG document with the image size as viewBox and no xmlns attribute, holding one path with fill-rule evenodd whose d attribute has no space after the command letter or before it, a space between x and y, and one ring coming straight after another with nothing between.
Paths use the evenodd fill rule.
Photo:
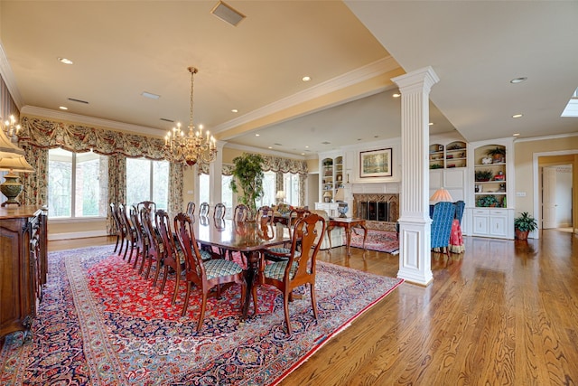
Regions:
<instances>
[{"instance_id":1,"label":"whole two-pane window nearest the left, under the floral valance","mask_svg":"<svg viewBox=\"0 0 578 386\"><path fill-rule=\"evenodd\" d=\"M107 216L108 159L93 152L48 151L48 214L51 218Z\"/></svg>"}]
</instances>

